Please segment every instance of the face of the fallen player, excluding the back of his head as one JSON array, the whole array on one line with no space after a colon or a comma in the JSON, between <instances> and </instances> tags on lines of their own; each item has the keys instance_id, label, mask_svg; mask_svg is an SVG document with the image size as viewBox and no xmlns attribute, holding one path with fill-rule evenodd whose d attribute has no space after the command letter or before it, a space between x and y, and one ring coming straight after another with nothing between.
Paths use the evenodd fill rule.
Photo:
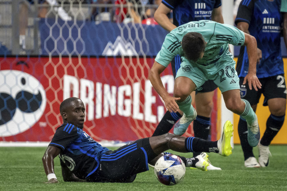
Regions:
<instances>
[{"instance_id":1,"label":"face of the fallen player, excluding the back of his head","mask_svg":"<svg viewBox=\"0 0 287 191\"><path fill-rule=\"evenodd\" d=\"M85 105L83 101L80 99L72 101L65 113L67 123L83 128L85 120Z\"/></svg>"}]
</instances>

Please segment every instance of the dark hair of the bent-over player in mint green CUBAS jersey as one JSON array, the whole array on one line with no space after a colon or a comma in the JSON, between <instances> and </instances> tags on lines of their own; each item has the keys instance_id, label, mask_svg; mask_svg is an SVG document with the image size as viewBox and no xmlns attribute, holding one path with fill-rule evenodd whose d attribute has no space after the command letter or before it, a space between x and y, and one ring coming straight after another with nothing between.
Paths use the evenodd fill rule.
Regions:
<instances>
[{"instance_id":1,"label":"dark hair of the bent-over player in mint green CUBAS jersey","mask_svg":"<svg viewBox=\"0 0 287 191\"><path fill-rule=\"evenodd\" d=\"M206 42L200 33L190 32L183 36L181 47L185 58L196 62L204 52Z\"/></svg>"}]
</instances>

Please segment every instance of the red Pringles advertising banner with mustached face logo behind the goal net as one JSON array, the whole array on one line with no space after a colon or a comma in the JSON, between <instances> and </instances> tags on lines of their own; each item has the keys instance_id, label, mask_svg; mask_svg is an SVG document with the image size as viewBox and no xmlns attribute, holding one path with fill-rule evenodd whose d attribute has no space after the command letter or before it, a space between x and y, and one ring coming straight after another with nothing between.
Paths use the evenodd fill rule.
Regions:
<instances>
[{"instance_id":1,"label":"red Pringles advertising banner with mustached face logo behind the goal net","mask_svg":"<svg viewBox=\"0 0 287 191\"><path fill-rule=\"evenodd\" d=\"M166 111L148 80L153 62L136 57L0 58L0 141L51 141L62 124L59 105L68 97L84 102L84 130L96 141L151 136ZM172 95L170 67L162 81ZM192 136L192 128L185 135Z\"/></svg>"}]
</instances>

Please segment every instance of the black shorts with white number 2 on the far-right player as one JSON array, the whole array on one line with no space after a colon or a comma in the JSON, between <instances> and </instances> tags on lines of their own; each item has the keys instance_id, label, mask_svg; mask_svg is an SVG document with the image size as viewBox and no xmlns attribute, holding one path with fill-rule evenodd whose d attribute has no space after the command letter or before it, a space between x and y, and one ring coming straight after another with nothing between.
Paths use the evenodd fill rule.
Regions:
<instances>
[{"instance_id":1,"label":"black shorts with white number 2 on the far-right player","mask_svg":"<svg viewBox=\"0 0 287 191\"><path fill-rule=\"evenodd\" d=\"M258 89L258 91L249 90L248 82L243 85L244 78L239 78L240 85L240 96L243 99L249 101L251 105L256 105L259 102L261 94L264 95L263 106L267 106L267 101L272 98L285 98L286 99L286 84L284 74L271 76L267 78L259 78L260 83L262 84L262 88Z\"/></svg>"}]
</instances>

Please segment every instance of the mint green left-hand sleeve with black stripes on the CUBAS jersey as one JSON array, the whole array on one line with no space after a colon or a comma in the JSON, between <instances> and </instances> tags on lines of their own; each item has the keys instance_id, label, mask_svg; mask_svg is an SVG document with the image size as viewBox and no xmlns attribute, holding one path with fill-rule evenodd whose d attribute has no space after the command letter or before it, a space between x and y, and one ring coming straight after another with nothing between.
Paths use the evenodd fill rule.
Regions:
<instances>
[{"instance_id":1,"label":"mint green left-hand sleeve with black stripes on the CUBAS jersey","mask_svg":"<svg viewBox=\"0 0 287 191\"><path fill-rule=\"evenodd\" d=\"M179 42L175 36L169 33L165 37L161 50L155 57L155 61L164 67L167 67L176 55L181 54L180 49L181 42Z\"/></svg>"}]
</instances>

